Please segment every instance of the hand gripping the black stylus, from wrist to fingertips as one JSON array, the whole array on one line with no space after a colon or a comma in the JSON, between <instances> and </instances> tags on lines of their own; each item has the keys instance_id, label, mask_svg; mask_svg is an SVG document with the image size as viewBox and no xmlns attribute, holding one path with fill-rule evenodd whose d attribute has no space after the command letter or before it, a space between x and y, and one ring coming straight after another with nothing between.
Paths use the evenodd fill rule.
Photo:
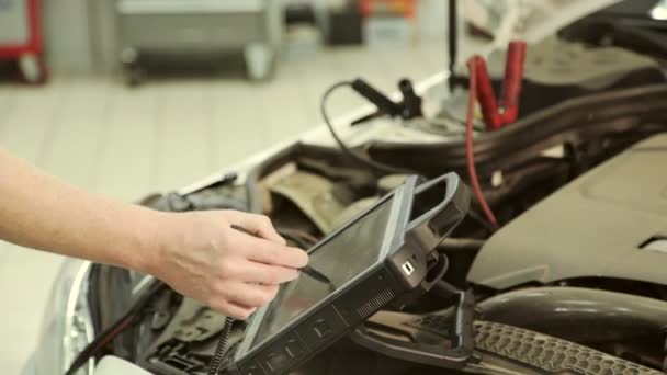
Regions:
<instances>
[{"instance_id":1,"label":"hand gripping the black stylus, from wrist to fingertips","mask_svg":"<svg viewBox=\"0 0 667 375\"><path fill-rule=\"evenodd\" d=\"M308 263L306 252L287 247L265 216L211 211L165 214L165 219L148 273L236 319L272 300L279 285Z\"/></svg>"}]
</instances>

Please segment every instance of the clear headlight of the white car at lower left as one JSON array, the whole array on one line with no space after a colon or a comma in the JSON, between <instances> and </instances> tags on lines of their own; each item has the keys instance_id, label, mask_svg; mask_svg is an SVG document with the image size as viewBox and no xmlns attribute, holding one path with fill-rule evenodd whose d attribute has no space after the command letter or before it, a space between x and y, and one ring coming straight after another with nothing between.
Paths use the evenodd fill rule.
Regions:
<instances>
[{"instance_id":1,"label":"clear headlight of the white car at lower left","mask_svg":"<svg viewBox=\"0 0 667 375\"><path fill-rule=\"evenodd\" d=\"M91 263L66 260L53 286L38 346L33 356L35 375L63 374L94 338L88 303ZM94 361L78 375L92 375Z\"/></svg>"}]
</instances>

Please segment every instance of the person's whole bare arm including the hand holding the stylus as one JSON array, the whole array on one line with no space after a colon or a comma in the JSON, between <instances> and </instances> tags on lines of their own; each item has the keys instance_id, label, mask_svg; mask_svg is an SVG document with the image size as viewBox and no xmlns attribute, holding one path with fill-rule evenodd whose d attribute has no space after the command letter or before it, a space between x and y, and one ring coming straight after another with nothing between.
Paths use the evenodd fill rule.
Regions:
<instances>
[{"instance_id":1,"label":"person's whole bare arm including the hand holding the stylus","mask_svg":"<svg viewBox=\"0 0 667 375\"><path fill-rule=\"evenodd\" d=\"M268 217L236 211L160 213L113 202L2 150L0 239L152 274L237 319L271 300L278 285L296 279L308 263Z\"/></svg>"}]
</instances>

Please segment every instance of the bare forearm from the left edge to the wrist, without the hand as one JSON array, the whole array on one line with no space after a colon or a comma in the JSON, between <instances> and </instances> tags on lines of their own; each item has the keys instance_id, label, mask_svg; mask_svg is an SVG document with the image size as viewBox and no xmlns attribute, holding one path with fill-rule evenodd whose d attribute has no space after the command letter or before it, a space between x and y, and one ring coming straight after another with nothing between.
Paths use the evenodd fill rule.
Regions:
<instances>
[{"instance_id":1,"label":"bare forearm from the left edge to the wrist, without the hand","mask_svg":"<svg viewBox=\"0 0 667 375\"><path fill-rule=\"evenodd\" d=\"M145 271L166 217L83 192L0 150L1 239Z\"/></svg>"}]
</instances>

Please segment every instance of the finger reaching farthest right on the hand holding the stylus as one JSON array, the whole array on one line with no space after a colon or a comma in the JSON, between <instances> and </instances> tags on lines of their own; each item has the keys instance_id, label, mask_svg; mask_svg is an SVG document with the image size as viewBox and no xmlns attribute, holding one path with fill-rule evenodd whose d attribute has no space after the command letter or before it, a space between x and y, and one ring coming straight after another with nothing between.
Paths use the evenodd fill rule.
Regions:
<instances>
[{"instance_id":1,"label":"finger reaching farthest right on the hand holding the stylus","mask_svg":"<svg viewBox=\"0 0 667 375\"><path fill-rule=\"evenodd\" d=\"M242 243L241 251L251 261L301 269L308 264L308 254L297 248L276 245L260 238L248 238Z\"/></svg>"}]
</instances>

